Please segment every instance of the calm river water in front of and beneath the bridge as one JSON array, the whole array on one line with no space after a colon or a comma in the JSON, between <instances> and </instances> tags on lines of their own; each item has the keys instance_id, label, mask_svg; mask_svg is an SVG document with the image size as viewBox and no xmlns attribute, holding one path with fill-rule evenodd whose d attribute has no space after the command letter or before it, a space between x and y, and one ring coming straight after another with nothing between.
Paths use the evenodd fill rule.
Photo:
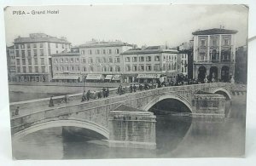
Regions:
<instances>
[{"instance_id":1,"label":"calm river water in front of and beneath the bridge","mask_svg":"<svg viewBox=\"0 0 256 166\"><path fill-rule=\"evenodd\" d=\"M229 117L200 120L157 116L156 150L108 148L101 140L69 140L61 128L44 129L13 141L16 159L119 157L241 157L245 145L246 97L234 96ZM75 136L74 136L75 137Z\"/></svg>"}]
</instances>

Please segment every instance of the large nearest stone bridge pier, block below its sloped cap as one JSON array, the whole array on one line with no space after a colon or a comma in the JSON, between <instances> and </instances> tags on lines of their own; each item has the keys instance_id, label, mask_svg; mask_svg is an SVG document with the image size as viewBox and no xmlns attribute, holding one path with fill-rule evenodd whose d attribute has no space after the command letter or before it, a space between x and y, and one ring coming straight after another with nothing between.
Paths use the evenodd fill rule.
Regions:
<instances>
[{"instance_id":1,"label":"large nearest stone bridge pier, block below its sloped cap","mask_svg":"<svg viewBox=\"0 0 256 166\"><path fill-rule=\"evenodd\" d=\"M155 116L152 112L109 113L109 147L155 149Z\"/></svg>"}]
</instances>

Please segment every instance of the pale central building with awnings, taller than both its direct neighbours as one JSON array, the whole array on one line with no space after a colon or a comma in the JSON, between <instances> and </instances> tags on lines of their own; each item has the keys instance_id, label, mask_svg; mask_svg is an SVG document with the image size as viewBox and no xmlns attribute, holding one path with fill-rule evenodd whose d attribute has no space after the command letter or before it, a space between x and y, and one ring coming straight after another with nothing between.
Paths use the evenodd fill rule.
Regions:
<instances>
[{"instance_id":1,"label":"pale central building with awnings, taller than both its direct neighbours","mask_svg":"<svg viewBox=\"0 0 256 166\"><path fill-rule=\"evenodd\" d=\"M81 74L86 76L86 81L119 79L123 72L123 63L120 54L133 45L115 42L98 42L92 40L79 46L81 54Z\"/></svg>"}]
</instances>

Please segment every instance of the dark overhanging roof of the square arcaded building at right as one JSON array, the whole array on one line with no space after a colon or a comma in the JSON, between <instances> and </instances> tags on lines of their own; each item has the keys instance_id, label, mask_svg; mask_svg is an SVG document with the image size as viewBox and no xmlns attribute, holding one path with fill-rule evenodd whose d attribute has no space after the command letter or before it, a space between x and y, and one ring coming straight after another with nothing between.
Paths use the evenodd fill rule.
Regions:
<instances>
[{"instance_id":1,"label":"dark overhanging roof of the square arcaded building at right","mask_svg":"<svg viewBox=\"0 0 256 166\"><path fill-rule=\"evenodd\" d=\"M238 31L236 31L236 30L213 28L213 29L208 29L208 30L195 31L192 34L193 35L236 34L237 32Z\"/></svg>"}]
</instances>

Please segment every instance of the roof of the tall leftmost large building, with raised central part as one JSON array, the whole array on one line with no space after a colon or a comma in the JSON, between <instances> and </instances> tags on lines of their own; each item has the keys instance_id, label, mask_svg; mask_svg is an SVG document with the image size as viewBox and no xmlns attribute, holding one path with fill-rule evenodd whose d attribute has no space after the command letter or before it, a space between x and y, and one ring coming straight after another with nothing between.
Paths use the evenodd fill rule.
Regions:
<instances>
[{"instance_id":1,"label":"roof of the tall leftmost large building, with raised central part","mask_svg":"<svg viewBox=\"0 0 256 166\"><path fill-rule=\"evenodd\" d=\"M50 42L50 43L69 43L67 42L66 37L51 37L44 33L31 33L29 37L18 37L15 38L15 43L41 43L41 42Z\"/></svg>"}]
</instances>

